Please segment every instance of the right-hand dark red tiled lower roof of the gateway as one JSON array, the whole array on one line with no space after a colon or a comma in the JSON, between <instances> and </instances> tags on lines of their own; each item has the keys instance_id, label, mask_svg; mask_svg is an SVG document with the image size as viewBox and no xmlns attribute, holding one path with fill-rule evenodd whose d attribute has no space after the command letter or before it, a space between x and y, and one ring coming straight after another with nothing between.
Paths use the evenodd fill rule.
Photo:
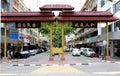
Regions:
<instances>
[{"instance_id":1,"label":"right-hand dark red tiled lower roof of the gateway","mask_svg":"<svg viewBox=\"0 0 120 76\"><path fill-rule=\"evenodd\" d=\"M110 12L61 12L58 21L95 21L95 22L111 22L118 18L114 17Z\"/></svg>"}]
</instances>

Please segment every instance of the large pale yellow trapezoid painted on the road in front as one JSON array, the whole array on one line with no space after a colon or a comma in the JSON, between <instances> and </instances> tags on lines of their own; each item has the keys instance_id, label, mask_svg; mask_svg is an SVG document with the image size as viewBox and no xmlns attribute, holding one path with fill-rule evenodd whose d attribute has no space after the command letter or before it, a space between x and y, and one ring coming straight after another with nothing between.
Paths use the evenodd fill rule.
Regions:
<instances>
[{"instance_id":1,"label":"large pale yellow trapezoid painted on the road in front","mask_svg":"<svg viewBox=\"0 0 120 76\"><path fill-rule=\"evenodd\" d=\"M37 70L31 72L31 74L46 74L46 73L79 73L83 74L83 71L80 71L71 66L44 66Z\"/></svg>"}]
</instances>

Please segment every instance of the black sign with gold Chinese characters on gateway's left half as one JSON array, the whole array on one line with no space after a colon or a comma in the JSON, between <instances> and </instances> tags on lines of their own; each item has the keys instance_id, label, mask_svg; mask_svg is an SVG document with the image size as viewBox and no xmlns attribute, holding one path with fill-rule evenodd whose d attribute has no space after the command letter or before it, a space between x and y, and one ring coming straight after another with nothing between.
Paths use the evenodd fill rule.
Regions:
<instances>
[{"instance_id":1,"label":"black sign with gold Chinese characters on gateway's left half","mask_svg":"<svg viewBox=\"0 0 120 76\"><path fill-rule=\"evenodd\" d=\"M40 22L16 22L16 28L40 28Z\"/></svg>"}]
</instances>

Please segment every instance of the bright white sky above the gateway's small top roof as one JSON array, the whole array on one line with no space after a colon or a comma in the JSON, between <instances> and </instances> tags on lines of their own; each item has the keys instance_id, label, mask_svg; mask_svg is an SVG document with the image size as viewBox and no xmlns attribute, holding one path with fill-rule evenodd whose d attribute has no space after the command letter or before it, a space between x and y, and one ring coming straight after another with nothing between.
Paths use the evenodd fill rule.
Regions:
<instances>
[{"instance_id":1,"label":"bright white sky above the gateway's small top roof","mask_svg":"<svg viewBox=\"0 0 120 76\"><path fill-rule=\"evenodd\" d=\"M24 0L24 3L32 11L39 11L39 7L45 4L69 4L75 7L74 11L80 11L86 0Z\"/></svg>"}]
</instances>

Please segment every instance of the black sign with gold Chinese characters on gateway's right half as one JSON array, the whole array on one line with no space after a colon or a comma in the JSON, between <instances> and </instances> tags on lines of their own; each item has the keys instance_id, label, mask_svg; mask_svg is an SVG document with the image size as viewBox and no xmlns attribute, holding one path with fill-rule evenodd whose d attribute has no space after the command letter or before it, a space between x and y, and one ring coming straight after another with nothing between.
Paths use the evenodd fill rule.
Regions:
<instances>
[{"instance_id":1,"label":"black sign with gold Chinese characters on gateway's right half","mask_svg":"<svg viewBox=\"0 0 120 76\"><path fill-rule=\"evenodd\" d=\"M73 28L97 28L97 22L73 22Z\"/></svg>"}]
</instances>

